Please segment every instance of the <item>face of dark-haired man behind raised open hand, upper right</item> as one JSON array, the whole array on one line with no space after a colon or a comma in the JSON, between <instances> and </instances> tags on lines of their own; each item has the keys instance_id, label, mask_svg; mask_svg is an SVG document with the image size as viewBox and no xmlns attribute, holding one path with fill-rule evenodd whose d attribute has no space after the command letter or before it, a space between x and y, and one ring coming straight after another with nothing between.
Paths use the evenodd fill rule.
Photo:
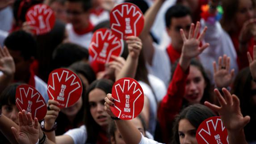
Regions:
<instances>
[{"instance_id":1,"label":"face of dark-haired man behind raised open hand, upper right","mask_svg":"<svg viewBox=\"0 0 256 144\"><path fill-rule=\"evenodd\" d=\"M179 18L173 17L171 19L171 25L167 28L167 33L172 39L173 48L178 52L181 52L183 45L183 40L180 35L180 29L183 29L186 37L188 37L191 23L192 18L189 15Z\"/></svg>"}]
</instances>

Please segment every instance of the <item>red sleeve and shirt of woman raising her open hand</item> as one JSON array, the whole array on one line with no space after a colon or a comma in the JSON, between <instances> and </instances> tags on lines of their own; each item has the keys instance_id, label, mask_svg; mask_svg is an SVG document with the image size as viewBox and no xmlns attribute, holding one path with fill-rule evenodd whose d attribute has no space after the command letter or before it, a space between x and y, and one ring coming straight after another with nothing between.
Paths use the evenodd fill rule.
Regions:
<instances>
[{"instance_id":1,"label":"red sleeve and shirt of woman raising her open hand","mask_svg":"<svg viewBox=\"0 0 256 144\"><path fill-rule=\"evenodd\" d=\"M169 143L172 121L179 114L182 107L183 96L185 95L186 80L189 75L189 68L185 72L177 65L172 81L170 82L167 94L159 104L157 117L162 130L164 143Z\"/></svg>"}]
</instances>

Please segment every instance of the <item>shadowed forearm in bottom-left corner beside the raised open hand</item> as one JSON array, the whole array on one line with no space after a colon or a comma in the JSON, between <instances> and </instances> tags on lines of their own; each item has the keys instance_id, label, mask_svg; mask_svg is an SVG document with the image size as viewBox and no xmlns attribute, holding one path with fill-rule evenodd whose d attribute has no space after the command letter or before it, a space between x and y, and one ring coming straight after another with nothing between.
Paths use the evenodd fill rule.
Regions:
<instances>
[{"instance_id":1,"label":"shadowed forearm in bottom-left corner beside the raised open hand","mask_svg":"<svg viewBox=\"0 0 256 144\"><path fill-rule=\"evenodd\" d=\"M12 127L19 129L16 123L14 123L11 119L8 119L6 116L2 115L0 117L0 131L12 144L18 144L13 135L11 129Z\"/></svg>"}]
</instances>

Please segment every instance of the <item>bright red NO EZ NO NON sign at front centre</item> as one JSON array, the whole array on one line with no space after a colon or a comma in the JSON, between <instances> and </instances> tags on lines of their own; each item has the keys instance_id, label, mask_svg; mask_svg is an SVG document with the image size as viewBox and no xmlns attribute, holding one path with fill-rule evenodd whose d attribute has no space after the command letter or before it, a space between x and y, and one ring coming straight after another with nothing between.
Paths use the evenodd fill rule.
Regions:
<instances>
[{"instance_id":1,"label":"bright red NO EZ NO NON sign at front centre","mask_svg":"<svg viewBox=\"0 0 256 144\"><path fill-rule=\"evenodd\" d=\"M144 94L139 83L132 78L121 78L112 87L115 99L111 111L120 119L134 119L143 109Z\"/></svg>"}]
</instances>

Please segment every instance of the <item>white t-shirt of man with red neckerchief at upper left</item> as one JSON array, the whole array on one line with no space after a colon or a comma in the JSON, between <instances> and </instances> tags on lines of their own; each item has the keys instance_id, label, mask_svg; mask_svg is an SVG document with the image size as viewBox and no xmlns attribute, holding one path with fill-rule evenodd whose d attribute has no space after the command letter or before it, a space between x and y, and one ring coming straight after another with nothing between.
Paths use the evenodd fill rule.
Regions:
<instances>
[{"instance_id":1,"label":"white t-shirt of man with red neckerchief at upper left","mask_svg":"<svg viewBox=\"0 0 256 144\"><path fill-rule=\"evenodd\" d=\"M67 30L68 39L70 42L83 46L84 48L87 48L87 49L89 48L92 35L93 35L92 32L89 32L83 35L78 35L74 32L71 24L66 25L66 30Z\"/></svg>"}]
</instances>

